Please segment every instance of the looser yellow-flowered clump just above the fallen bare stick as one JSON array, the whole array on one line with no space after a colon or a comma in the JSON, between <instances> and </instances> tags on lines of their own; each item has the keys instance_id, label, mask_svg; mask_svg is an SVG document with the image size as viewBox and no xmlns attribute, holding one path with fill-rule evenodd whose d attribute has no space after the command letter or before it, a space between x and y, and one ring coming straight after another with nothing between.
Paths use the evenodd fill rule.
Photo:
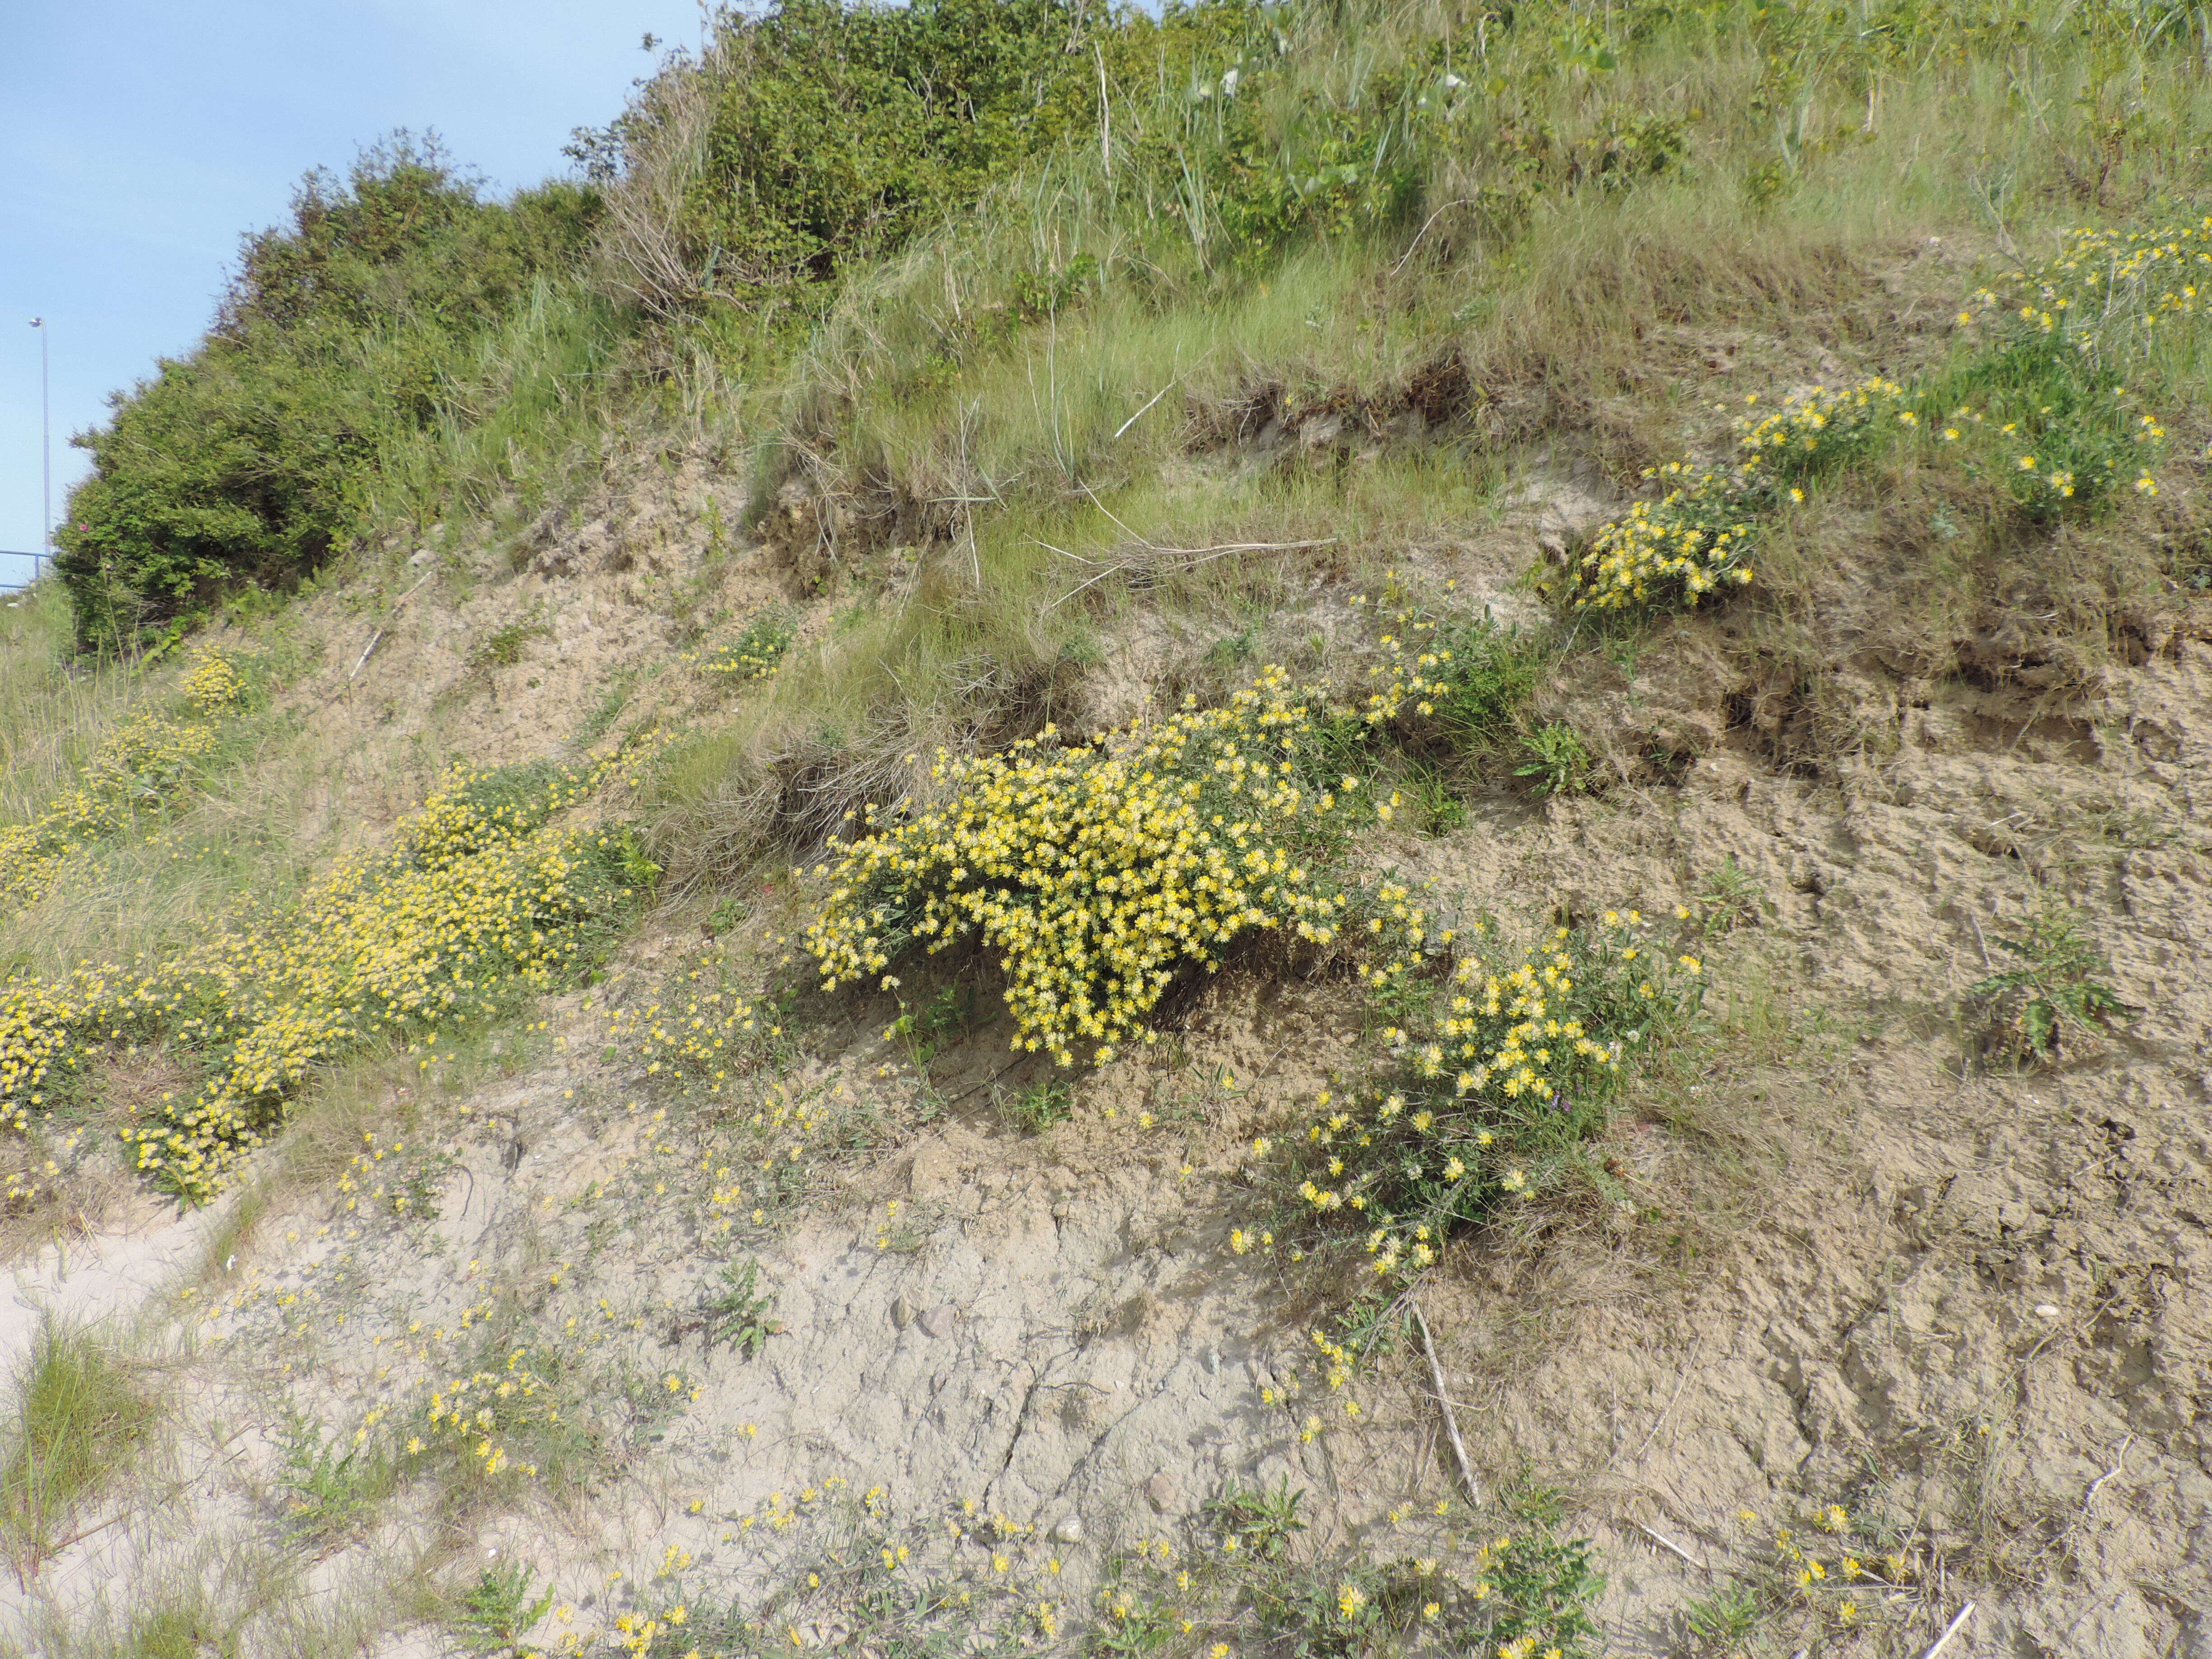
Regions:
<instances>
[{"instance_id":1,"label":"looser yellow-flowered clump just above the fallen bare stick","mask_svg":"<svg viewBox=\"0 0 2212 1659\"><path fill-rule=\"evenodd\" d=\"M1526 951L1495 949L1491 931L1451 929L1442 958L1400 958L1385 991L1405 1024L1283 1137L1274 1168L1296 1208L1312 1228L1354 1225L1376 1274L1429 1267L1453 1225L1540 1190L1604 1126L1624 1066L1699 1002L1703 962L1670 958L1639 911Z\"/></svg>"}]
</instances>

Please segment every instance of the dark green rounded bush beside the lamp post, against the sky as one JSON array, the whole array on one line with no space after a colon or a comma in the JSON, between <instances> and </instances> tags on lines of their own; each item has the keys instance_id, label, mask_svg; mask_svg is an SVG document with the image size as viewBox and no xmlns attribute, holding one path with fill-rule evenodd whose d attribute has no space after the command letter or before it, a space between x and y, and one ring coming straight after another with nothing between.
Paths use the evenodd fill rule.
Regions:
<instances>
[{"instance_id":1,"label":"dark green rounded bush beside the lamp post, against the sky","mask_svg":"<svg viewBox=\"0 0 2212 1659\"><path fill-rule=\"evenodd\" d=\"M201 343L75 438L93 473L55 568L82 641L131 644L226 588L314 571L380 453L442 416L471 343L580 259L595 212L573 184L487 199L405 133L343 181L310 173L290 221L246 239Z\"/></svg>"}]
</instances>

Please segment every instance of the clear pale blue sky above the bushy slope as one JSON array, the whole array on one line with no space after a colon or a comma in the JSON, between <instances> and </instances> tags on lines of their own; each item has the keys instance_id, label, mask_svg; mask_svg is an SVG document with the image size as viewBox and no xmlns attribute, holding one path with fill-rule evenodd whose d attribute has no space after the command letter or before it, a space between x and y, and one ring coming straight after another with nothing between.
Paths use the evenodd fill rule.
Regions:
<instances>
[{"instance_id":1,"label":"clear pale blue sky above the bushy slope","mask_svg":"<svg viewBox=\"0 0 2212 1659\"><path fill-rule=\"evenodd\" d=\"M53 511L106 394L192 345L239 237L299 175L436 128L498 188L566 170L697 0L0 0L0 549L40 540L38 332ZM0 584L22 580L0 560Z\"/></svg>"}]
</instances>

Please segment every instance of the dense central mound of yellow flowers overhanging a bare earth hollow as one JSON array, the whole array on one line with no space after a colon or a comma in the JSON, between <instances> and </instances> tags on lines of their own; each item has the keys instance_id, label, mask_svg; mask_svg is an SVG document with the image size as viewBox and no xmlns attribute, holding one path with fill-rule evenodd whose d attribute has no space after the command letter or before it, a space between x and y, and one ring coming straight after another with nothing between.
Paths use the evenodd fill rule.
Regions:
<instances>
[{"instance_id":1,"label":"dense central mound of yellow flowers overhanging a bare earth hollow","mask_svg":"<svg viewBox=\"0 0 2212 1659\"><path fill-rule=\"evenodd\" d=\"M1394 686L1416 681L1429 684L1416 670ZM1360 719L1389 712L1396 697ZM1217 971L1248 933L1329 947L1365 922L1396 940L1329 856L1389 807L1325 765L1325 726L1343 719L1267 668L1223 708L1186 699L1091 743L1046 728L1006 754L940 750L942 805L872 805L867 834L832 843L805 949L838 987L889 980L909 947L975 938L1009 978L1013 1046L1066 1066L1077 1048L1106 1062L1150 1040L1146 1015L1177 975Z\"/></svg>"}]
</instances>

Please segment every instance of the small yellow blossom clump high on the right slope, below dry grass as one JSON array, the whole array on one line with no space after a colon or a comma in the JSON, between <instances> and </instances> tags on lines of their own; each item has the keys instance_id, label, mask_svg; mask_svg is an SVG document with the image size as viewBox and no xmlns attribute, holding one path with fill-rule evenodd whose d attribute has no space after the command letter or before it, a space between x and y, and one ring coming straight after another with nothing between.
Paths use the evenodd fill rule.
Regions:
<instances>
[{"instance_id":1,"label":"small yellow blossom clump high on the right slope, below dry grass","mask_svg":"<svg viewBox=\"0 0 2212 1659\"><path fill-rule=\"evenodd\" d=\"M1792 392L1781 407L1736 420L1736 465L1648 467L1644 476L1663 480L1666 493L1597 529L1568 571L1564 597L1577 611L1626 611L1694 606L1708 593L1747 586L1756 513L1778 502L1790 480L1860 449L1878 422L1916 425L1911 409L1896 409L1900 396L1902 387L1880 376Z\"/></svg>"}]
</instances>

